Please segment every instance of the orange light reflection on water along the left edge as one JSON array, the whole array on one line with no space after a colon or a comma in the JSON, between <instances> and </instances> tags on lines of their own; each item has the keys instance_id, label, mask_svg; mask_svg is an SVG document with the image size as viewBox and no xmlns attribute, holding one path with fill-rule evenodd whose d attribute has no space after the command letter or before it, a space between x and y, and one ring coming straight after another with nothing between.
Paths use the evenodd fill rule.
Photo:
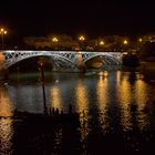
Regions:
<instances>
[{"instance_id":1,"label":"orange light reflection on water along the left edge","mask_svg":"<svg viewBox=\"0 0 155 155\"><path fill-rule=\"evenodd\" d=\"M0 87L0 116L11 116L12 113L11 102L7 91ZM0 120L0 153L9 154L11 151L12 138L12 120Z\"/></svg>"}]
</instances>

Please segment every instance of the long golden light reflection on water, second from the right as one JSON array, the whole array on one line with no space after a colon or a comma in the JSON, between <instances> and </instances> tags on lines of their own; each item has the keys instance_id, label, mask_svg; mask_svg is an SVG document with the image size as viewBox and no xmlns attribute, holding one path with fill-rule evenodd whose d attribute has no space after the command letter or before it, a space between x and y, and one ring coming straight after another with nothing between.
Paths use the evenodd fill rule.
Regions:
<instances>
[{"instance_id":1,"label":"long golden light reflection on water, second from the right","mask_svg":"<svg viewBox=\"0 0 155 155\"><path fill-rule=\"evenodd\" d=\"M120 73L117 73L117 79L120 79ZM125 131L131 130L132 126L132 116L131 112L128 111L132 96L131 96L131 85L127 81L127 76L124 76L122 80L122 83L120 84L120 81L117 81L117 96L118 101L121 103L121 113L122 113L122 125L124 126Z\"/></svg>"}]
</instances>

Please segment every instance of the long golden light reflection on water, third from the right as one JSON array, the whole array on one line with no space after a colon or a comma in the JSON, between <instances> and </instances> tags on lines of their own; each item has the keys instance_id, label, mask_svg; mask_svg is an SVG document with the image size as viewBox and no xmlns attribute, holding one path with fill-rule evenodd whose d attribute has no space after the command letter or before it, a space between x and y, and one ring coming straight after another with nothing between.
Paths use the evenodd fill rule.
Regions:
<instances>
[{"instance_id":1,"label":"long golden light reflection on water, third from the right","mask_svg":"<svg viewBox=\"0 0 155 155\"><path fill-rule=\"evenodd\" d=\"M106 121L106 112L107 112L107 79L102 79L100 76L96 85L96 96L99 103L100 111L100 123L102 125L103 132L106 132L107 121Z\"/></svg>"}]
</instances>

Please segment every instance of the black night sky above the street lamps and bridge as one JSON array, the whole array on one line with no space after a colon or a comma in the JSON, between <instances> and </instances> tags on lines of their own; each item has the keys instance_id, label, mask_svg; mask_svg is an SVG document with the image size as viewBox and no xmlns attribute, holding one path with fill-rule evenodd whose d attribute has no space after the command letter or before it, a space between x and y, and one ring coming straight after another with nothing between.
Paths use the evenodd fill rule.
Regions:
<instances>
[{"instance_id":1,"label":"black night sky above the street lamps and bridge","mask_svg":"<svg viewBox=\"0 0 155 155\"><path fill-rule=\"evenodd\" d=\"M155 32L155 4L131 0L3 0L0 24L10 35L90 37Z\"/></svg>"}]
</instances>

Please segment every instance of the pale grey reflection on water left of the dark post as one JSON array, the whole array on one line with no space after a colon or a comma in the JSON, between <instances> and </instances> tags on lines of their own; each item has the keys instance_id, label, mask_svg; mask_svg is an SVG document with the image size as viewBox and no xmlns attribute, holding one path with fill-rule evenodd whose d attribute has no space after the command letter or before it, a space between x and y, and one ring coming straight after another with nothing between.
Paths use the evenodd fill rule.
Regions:
<instances>
[{"instance_id":1,"label":"pale grey reflection on water left of the dark post","mask_svg":"<svg viewBox=\"0 0 155 155\"><path fill-rule=\"evenodd\" d=\"M40 84L9 85L8 93L18 111L43 113L42 87Z\"/></svg>"}]
</instances>

